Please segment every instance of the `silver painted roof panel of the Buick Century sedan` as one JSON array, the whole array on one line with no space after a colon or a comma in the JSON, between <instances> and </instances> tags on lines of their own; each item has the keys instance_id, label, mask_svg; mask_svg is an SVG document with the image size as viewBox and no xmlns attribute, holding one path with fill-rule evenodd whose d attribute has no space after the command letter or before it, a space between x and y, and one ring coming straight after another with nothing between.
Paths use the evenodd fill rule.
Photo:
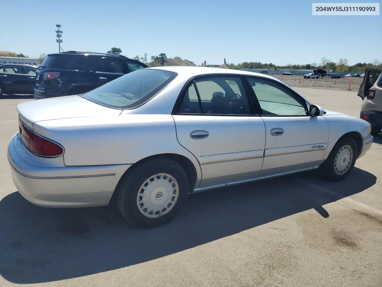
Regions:
<instances>
[{"instance_id":1,"label":"silver painted roof panel of the Buick Century sedan","mask_svg":"<svg viewBox=\"0 0 382 287\"><path fill-rule=\"evenodd\" d=\"M224 68L213 68L213 67L164 66L164 67L149 67L146 69L165 70L169 72L175 72L175 73L181 74L184 77L189 77L189 78L199 76L199 75L208 75L208 74L231 74L231 75L257 76L257 77L269 78L269 79L275 80L274 77L264 75L262 73L233 70L233 69L224 69Z\"/></svg>"}]
</instances>

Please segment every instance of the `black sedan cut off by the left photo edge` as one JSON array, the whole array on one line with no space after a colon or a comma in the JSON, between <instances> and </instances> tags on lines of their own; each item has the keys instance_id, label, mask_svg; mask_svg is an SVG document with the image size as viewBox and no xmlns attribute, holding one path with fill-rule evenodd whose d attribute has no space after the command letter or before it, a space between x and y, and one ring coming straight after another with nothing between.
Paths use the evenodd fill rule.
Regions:
<instances>
[{"instance_id":1,"label":"black sedan cut off by the left photo edge","mask_svg":"<svg viewBox=\"0 0 382 287\"><path fill-rule=\"evenodd\" d=\"M3 93L33 95L36 70L32 65L0 64L0 96Z\"/></svg>"}]
</instances>

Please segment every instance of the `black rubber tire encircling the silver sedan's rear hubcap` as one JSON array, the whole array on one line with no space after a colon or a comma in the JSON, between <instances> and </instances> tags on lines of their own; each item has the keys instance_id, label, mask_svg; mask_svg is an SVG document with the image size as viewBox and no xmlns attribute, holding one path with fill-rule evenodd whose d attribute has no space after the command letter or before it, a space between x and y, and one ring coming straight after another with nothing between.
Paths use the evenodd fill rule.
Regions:
<instances>
[{"instance_id":1,"label":"black rubber tire encircling the silver sedan's rear hubcap","mask_svg":"<svg viewBox=\"0 0 382 287\"><path fill-rule=\"evenodd\" d=\"M138 193L141 192L140 188L147 179L160 173L169 174L175 179L179 187L178 198L166 214L150 218L142 214L138 207ZM121 178L115 192L118 208L129 223L138 228L152 228L170 222L178 214L188 198L189 183L186 172L178 163L167 158L157 158L141 163L127 173ZM149 198L147 195L147 199Z\"/></svg>"}]
</instances>

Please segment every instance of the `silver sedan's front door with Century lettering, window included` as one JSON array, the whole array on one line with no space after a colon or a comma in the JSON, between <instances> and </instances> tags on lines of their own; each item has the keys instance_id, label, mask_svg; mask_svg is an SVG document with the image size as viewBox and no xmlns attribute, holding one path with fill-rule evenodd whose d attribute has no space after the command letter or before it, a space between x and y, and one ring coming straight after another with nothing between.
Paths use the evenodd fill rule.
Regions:
<instances>
[{"instance_id":1,"label":"silver sedan's front door with Century lettering, window included","mask_svg":"<svg viewBox=\"0 0 382 287\"><path fill-rule=\"evenodd\" d=\"M261 175L304 170L324 160L329 126L312 117L306 101L275 80L247 77L265 123L266 141Z\"/></svg>"}]
</instances>

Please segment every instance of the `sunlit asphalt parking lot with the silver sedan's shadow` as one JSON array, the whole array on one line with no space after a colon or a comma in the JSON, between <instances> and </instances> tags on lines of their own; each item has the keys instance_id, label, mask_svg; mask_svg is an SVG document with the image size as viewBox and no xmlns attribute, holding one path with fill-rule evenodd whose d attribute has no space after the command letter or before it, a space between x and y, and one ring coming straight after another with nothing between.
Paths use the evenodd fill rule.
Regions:
<instances>
[{"instance_id":1,"label":"sunlit asphalt parking lot with the silver sedan's shadow","mask_svg":"<svg viewBox=\"0 0 382 287\"><path fill-rule=\"evenodd\" d=\"M359 117L357 91L296 90ZM114 205L18 194L6 149L27 100L0 99L0 286L382 286L382 134L345 181L311 171L201 192L170 224L136 230Z\"/></svg>"}]
</instances>

